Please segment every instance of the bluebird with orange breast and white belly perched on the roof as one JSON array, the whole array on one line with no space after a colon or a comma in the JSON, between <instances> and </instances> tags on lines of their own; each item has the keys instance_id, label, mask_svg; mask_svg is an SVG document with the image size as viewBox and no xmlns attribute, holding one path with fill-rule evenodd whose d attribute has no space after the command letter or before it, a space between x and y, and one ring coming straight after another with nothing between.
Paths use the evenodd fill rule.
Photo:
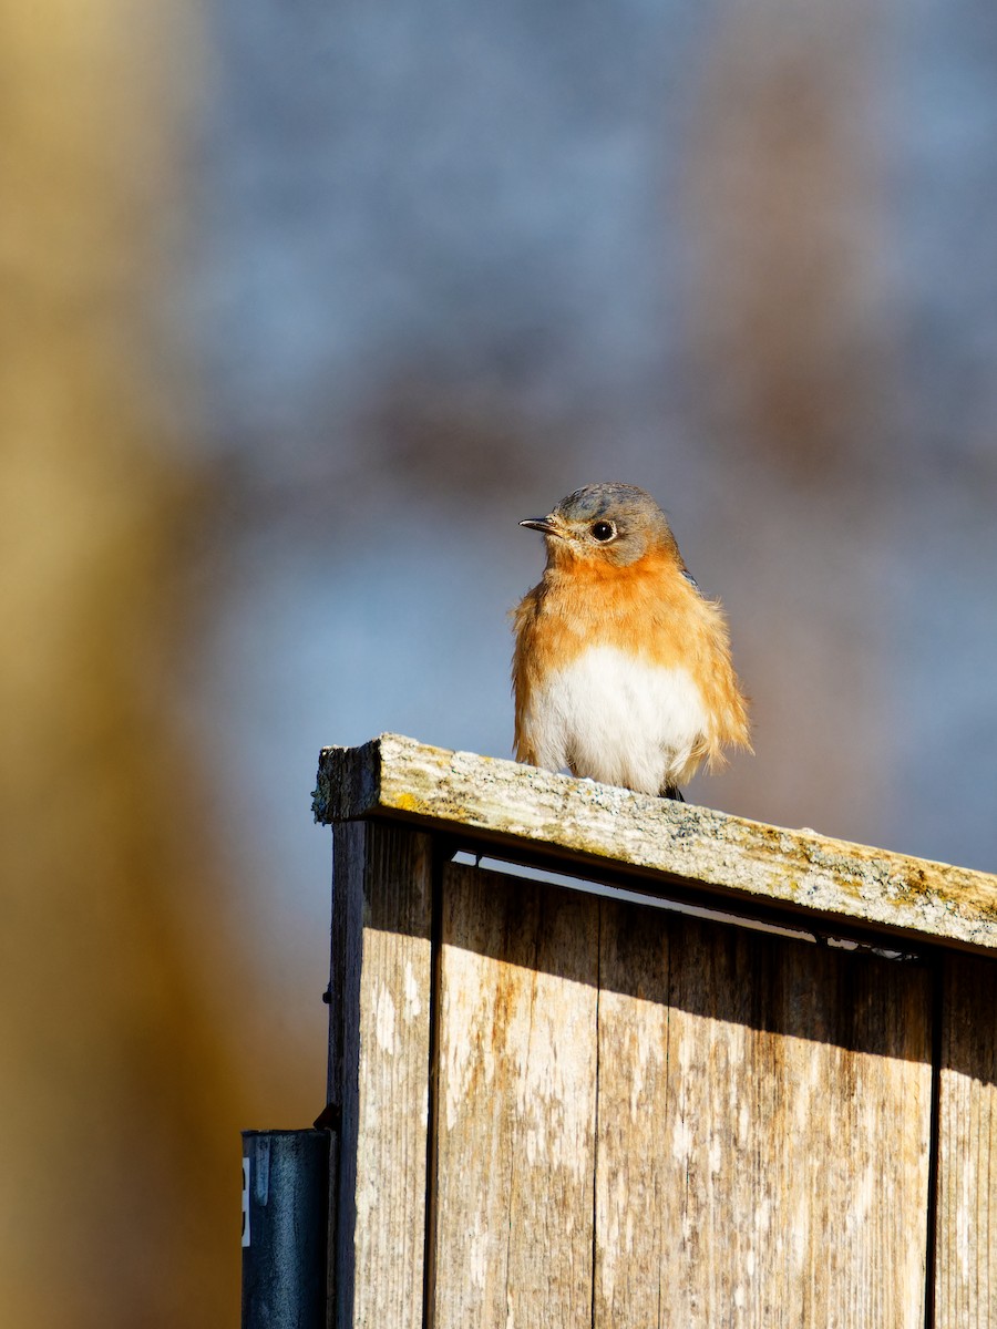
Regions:
<instances>
[{"instance_id":1,"label":"bluebird with orange breast and white belly perched on the roof","mask_svg":"<svg viewBox=\"0 0 997 1329\"><path fill-rule=\"evenodd\" d=\"M723 610L650 494L586 485L520 525L546 567L514 613L517 760L681 799L724 744L750 750Z\"/></svg>"}]
</instances>

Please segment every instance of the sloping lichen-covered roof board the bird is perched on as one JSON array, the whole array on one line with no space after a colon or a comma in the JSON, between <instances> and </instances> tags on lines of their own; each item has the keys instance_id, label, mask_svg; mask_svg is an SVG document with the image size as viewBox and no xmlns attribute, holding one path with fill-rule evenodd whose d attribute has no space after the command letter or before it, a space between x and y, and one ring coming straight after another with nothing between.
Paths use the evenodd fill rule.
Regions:
<instances>
[{"instance_id":1,"label":"sloping lichen-covered roof board the bird is perched on","mask_svg":"<svg viewBox=\"0 0 997 1329\"><path fill-rule=\"evenodd\" d=\"M706 890L800 914L818 930L887 932L997 952L997 876L748 821L382 734L323 748L315 820L403 819L496 852ZM662 890L667 894L667 890Z\"/></svg>"}]
</instances>

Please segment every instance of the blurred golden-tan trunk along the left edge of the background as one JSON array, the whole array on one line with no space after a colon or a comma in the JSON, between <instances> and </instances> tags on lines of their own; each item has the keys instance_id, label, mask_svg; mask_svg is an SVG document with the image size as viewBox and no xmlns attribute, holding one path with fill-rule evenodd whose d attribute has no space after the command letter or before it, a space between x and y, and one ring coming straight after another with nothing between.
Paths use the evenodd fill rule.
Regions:
<instances>
[{"instance_id":1,"label":"blurred golden-tan trunk along the left edge of the background","mask_svg":"<svg viewBox=\"0 0 997 1329\"><path fill-rule=\"evenodd\" d=\"M150 319L194 20L186 0L0 15L0 1301L19 1329L238 1314L253 1123L190 944L230 966L175 704L207 513Z\"/></svg>"}]
</instances>

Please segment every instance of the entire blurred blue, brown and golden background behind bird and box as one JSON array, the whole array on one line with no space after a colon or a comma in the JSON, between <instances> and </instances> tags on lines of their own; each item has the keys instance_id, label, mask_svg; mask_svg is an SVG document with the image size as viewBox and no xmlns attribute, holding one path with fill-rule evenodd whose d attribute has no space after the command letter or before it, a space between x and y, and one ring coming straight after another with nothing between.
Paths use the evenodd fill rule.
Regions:
<instances>
[{"instance_id":1,"label":"entire blurred blue, brown and golden background behind bird and box","mask_svg":"<svg viewBox=\"0 0 997 1329\"><path fill-rule=\"evenodd\" d=\"M731 812L997 868L997 9L0 15L0 1297L238 1322L327 743L508 756L520 517L650 489Z\"/></svg>"}]
</instances>

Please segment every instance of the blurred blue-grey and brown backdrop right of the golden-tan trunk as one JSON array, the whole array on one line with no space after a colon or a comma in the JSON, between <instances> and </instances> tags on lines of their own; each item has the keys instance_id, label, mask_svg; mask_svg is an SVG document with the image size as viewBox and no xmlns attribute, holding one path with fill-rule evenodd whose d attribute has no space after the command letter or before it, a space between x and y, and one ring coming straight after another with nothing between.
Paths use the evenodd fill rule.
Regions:
<instances>
[{"instance_id":1,"label":"blurred blue-grey and brown backdrop right of the golden-tan trunk","mask_svg":"<svg viewBox=\"0 0 997 1329\"><path fill-rule=\"evenodd\" d=\"M213 21L185 335L239 578L199 702L269 962L314 994L319 744L509 755L516 521L592 480L730 614L756 756L693 797L993 869L997 17Z\"/></svg>"}]
</instances>

